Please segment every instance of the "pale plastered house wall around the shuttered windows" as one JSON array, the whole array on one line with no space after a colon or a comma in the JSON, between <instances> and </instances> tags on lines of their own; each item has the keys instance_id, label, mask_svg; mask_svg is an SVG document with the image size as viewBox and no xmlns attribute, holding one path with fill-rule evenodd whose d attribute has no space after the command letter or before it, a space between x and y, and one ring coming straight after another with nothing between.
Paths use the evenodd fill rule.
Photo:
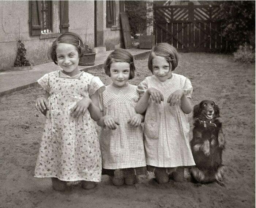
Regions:
<instances>
[{"instance_id":1,"label":"pale plastered house wall around the shuttered windows","mask_svg":"<svg viewBox=\"0 0 256 208\"><path fill-rule=\"evenodd\" d=\"M8 70L14 65L19 37L32 65L52 61L48 58L48 50L59 34L60 24L59 1L52 2L53 34L30 36L29 1L0 1L0 70ZM119 3L116 2L119 11ZM106 28L106 1L103 1L103 7L103 45L106 50L120 48L120 15L116 15L119 27ZM94 1L69 1L69 31L79 34L90 48L94 48Z\"/></svg>"}]
</instances>

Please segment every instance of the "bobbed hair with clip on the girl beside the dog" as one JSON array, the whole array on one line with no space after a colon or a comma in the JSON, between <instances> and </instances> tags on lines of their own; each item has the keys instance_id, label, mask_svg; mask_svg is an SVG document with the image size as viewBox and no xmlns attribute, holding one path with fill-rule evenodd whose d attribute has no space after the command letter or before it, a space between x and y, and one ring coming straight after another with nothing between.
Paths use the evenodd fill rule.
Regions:
<instances>
[{"instance_id":1,"label":"bobbed hair with clip on the girl beside the dog","mask_svg":"<svg viewBox=\"0 0 256 208\"><path fill-rule=\"evenodd\" d=\"M148 56L148 69L153 73L152 60L156 56L162 56L172 66L172 71L178 65L178 52L176 48L167 43L159 43L151 50Z\"/></svg>"}]
</instances>

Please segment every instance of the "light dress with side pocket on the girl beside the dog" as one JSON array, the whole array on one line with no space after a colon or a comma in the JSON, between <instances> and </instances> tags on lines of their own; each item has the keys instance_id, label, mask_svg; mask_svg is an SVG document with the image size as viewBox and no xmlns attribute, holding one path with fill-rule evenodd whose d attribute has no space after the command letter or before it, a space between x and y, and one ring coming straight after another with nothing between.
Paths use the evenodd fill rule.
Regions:
<instances>
[{"instance_id":1,"label":"light dress with side pocket on the girl beside the dog","mask_svg":"<svg viewBox=\"0 0 256 208\"><path fill-rule=\"evenodd\" d=\"M178 89L184 89L191 98L191 82L182 75L173 73L170 79L161 82L157 77L148 76L138 86L140 96L148 88L156 88L164 97L161 104L151 97L144 119L144 145L146 162L154 167L180 167L195 165L189 145L188 116L180 105L170 106L167 99Z\"/></svg>"}]
</instances>

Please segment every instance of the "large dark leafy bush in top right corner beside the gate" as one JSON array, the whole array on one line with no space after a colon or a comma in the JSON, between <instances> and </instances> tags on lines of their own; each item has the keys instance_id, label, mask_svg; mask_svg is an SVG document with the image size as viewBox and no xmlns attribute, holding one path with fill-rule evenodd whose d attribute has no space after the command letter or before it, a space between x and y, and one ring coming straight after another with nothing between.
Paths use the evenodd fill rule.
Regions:
<instances>
[{"instance_id":1,"label":"large dark leafy bush in top right corner beside the gate","mask_svg":"<svg viewBox=\"0 0 256 208\"><path fill-rule=\"evenodd\" d=\"M255 1L221 1L220 20L228 52L246 42L255 48Z\"/></svg>"}]
</instances>

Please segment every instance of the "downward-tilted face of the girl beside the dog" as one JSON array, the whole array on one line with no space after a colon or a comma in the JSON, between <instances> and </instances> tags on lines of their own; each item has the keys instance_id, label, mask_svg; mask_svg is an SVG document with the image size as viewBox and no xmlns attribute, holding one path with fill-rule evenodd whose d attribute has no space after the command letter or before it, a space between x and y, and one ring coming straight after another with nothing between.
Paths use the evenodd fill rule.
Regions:
<instances>
[{"instance_id":1,"label":"downward-tilted face of the girl beside the dog","mask_svg":"<svg viewBox=\"0 0 256 208\"><path fill-rule=\"evenodd\" d=\"M152 60L152 72L160 82L165 82L172 76L172 65L162 56L155 56Z\"/></svg>"}]
</instances>

